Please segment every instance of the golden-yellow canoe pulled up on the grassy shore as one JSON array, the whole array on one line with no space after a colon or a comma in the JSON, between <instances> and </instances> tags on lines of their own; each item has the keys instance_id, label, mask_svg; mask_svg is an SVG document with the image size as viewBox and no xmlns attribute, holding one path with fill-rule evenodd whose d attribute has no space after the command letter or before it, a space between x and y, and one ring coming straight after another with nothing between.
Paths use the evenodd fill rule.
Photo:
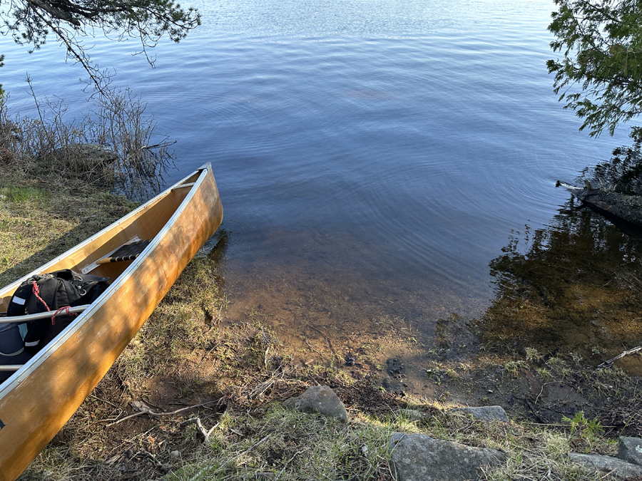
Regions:
<instances>
[{"instance_id":1,"label":"golden-yellow canoe pulled up on the grassy shore","mask_svg":"<svg viewBox=\"0 0 642 481\"><path fill-rule=\"evenodd\" d=\"M93 267L133 238L149 239L133 261L97 264L111 285L54 341L0 385L0 481L14 481L54 438L141 329L185 266L223 220L208 163L145 205L0 289L0 311L34 274Z\"/></svg>"}]
</instances>

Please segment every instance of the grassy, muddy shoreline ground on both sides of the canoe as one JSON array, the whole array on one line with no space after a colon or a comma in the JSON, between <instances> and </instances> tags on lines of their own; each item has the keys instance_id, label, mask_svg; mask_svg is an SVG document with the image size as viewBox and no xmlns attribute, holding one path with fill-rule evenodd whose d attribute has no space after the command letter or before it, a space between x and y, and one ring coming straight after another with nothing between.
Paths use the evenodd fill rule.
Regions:
<instances>
[{"instance_id":1,"label":"grassy, muddy shoreline ground on both sides of the canoe","mask_svg":"<svg viewBox=\"0 0 642 481\"><path fill-rule=\"evenodd\" d=\"M0 259L6 260L0 279L5 284L133 207L96 190L52 195L41 182L11 178L6 167L2 170ZM367 370L337 366L330 344L320 361L302 363L280 343L268 319L225 321L223 244L215 240L185 269L108 375L19 479L257 479L263 473L265 479L280 480L304 475L392 480L389 437L404 432L506 452L506 465L488 470L484 479L528 477L550 468L559 475L555 479L572 474L597 480L600 475L575 467L569 452L613 455L618 435L642 435L639 378L621 368L596 371L572 352L546 357L528 349L490 348L476 355L477 364L457 366L449 353L435 350L425 382L441 397L424 400L382 389L382 378L392 378L400 366L380 361L379 368ZM408 341L403 329L394 335ZM448 338L449 331L443 335ZM283 400L315 385L337 392L350 423L282 408ZM504 405L511 422L479 423L450 411L473 401ZM210 405L120 421L136 413L135 402L155 413ZM555 404L559 412L551 409ZM412 420L406 409L426 416ZM195 417L207 430L217 426L209 445L193 423L185 424ZM270 431L269 440L247 451ZM365 443L371 455L355 454L358 443Z\"/></svg>"}]
</instances>

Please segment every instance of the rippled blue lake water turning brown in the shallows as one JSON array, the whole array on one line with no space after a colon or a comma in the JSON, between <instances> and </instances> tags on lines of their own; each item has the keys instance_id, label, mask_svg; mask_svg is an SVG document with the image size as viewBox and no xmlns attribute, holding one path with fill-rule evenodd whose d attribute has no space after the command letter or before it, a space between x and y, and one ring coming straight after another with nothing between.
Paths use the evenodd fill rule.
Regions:
<instances>
[{"instance_id":1,"label":"rippled blue lake water turning brown in the shallows","mask_svg":"<svg viewBox=\"0 0 642 481\"><path fill-rule=\"evenodd\" d=\"M626 143L626 127L579 133L552 93L551 1L187 3L203 26L161 43L156 69L133 42L98 41L93 58L178 140L168 180L213 163L228 316L260 314L290 342L308 324L430 333L478 315L511 232L548 224L568 198L555 181ZM27 71L85 108L86 75L55 43L0 48L12 110L33 113Z\"/></svg>"}]
</instances>

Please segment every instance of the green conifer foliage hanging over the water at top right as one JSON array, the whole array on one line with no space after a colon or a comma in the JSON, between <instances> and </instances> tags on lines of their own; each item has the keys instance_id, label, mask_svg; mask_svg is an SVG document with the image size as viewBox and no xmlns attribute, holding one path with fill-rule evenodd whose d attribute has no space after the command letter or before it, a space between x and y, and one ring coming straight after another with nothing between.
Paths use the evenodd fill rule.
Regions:
<instances>
[{"instance_id":1,"label":"green conifer foliage hanging over the water at top right","mask_svg":"<svg viewBox=\"0 0 642 481\"><path fill-rule=\"evenodd\" d=\"M642 113L642 0L554 0L554 91L591 136Z\"/></svg>"}]
</instances>

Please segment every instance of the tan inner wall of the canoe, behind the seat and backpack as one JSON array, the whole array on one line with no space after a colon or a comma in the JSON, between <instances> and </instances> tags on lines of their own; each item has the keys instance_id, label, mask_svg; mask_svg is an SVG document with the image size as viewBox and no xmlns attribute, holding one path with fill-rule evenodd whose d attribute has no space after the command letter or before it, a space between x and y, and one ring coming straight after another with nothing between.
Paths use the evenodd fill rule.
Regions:
<instances>
[{"instance_id":1,"label":"tan inner wall of the canoe, behind the seat and backpack","mask_svg":"<svg viewBox=\"0 0 642 481\"><path fill-rule=\"evenodd\" d=\"M198 179L198 175L199 172L195 172L183 180L181 184L195 182ZM71 269L80 272L83 267L106 256L109 252L128 242L132 237L137 236L142 240L153 239L165 226L175 210L178 209L180 202L183 202L192 187L173 188L165 192L155 202L147 205L143 211L135 211L123 217L120 222L114 224L110 229L91 237L88 241L80 244L77 249L72 249L71 252L66 252L63 256L55 259L54 262L45 264L37 274L45 274L59 269ZM109 282L112 283L132 262L123 261L101 264L88 274L108 277ZM16 281L14 284L0 290L0 311L6 311L9 301L11 301L11 295L19 284L20 281Z\"/></svg>"}]
</instances>

